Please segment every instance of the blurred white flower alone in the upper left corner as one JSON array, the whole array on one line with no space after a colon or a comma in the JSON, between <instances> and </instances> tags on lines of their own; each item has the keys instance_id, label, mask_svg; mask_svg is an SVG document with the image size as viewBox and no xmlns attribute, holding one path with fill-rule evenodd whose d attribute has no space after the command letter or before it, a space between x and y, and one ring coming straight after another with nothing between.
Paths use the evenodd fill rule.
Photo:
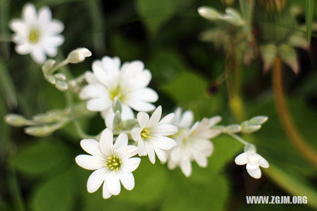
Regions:
<instances>
[{"instance_id":1,"label":"blurred white flower alone in the upper left corner","mask_svg":"<svg viewBox=\"0 0 317 211\"><path fill-rule=\"evenodd\" d=\"M37 13L34 4L25 4L22 19L11 20L9 26L15 32L15 51L22 55L31 53L33 60L40 64L46 61L46 55L56 56L57 47L64 42L64 37L59 35L64 30L64 24L52 19L47 6L41 7Z\"/></svg>"}]
</instances>

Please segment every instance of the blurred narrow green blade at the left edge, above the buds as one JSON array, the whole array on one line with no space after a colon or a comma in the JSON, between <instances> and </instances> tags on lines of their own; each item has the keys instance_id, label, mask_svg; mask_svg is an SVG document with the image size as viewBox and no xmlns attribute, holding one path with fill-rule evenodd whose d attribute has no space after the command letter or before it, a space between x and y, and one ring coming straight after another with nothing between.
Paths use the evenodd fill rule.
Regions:
<instances>
[{"instance_id":1,"label":"blurred narrow green blade at the left edge, above the buds","mask_svg":"<svg viewBox=\"0 0 317 211\"><path fill-rule=\"evenodd\" d=\"M6 103L9 107L15 108L17 106L15 87L12 78L0 58L0 90L3 92Z\"/></svg>"}]
</instances>

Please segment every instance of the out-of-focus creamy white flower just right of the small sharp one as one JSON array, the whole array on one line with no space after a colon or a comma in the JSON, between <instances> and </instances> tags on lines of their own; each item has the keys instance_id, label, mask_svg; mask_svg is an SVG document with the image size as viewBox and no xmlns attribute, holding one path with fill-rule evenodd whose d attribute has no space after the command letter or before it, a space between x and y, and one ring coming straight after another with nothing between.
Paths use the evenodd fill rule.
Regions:
<instances>
[{"instance_id":1,"label":"out-of-focus creamy white flower just right of the small sharp one","mask_svg":"<svg viewBox=\"0 0 317 211\"><path fill-rule=\"evenodd\" d=\"M204 118L191 127L193 120L194 114L191 110L187 110L183 114L181 108L175 110L173 125L176 125L179 131L173 135L173 138L176 140L177 146L167 152L167 167L172 170L176 166L180 166L187 177L192 173L192 160L195 160L200 167L207 167L207 158L213 152L213 144L209 139L221 133L219 129L212 128L221 120L220 116Z\"/></svg>"}]
</instances>

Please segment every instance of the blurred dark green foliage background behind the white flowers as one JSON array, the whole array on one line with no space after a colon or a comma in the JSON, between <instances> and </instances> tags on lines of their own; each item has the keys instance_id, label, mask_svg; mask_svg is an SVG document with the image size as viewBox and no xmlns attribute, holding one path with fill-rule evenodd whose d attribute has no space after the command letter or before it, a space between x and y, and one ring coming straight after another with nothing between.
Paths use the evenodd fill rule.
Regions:
<instances>
[{"instance_id":1,"label":"blurred dark green foliage background behind the white flowers","mask_svg":"<svg viewBox=\"0 0 317 211\"><path fill-rule=\"evenodd\" d=\"M278 5L284 0L260 1ZM21 16L26 2L0 0L1 34L12 34L8 21ZM108 200L102 198L101 189L89 194L86 184L91 171L80 168L74 161L84 152L71 123L48 137L35 138L26 135L23 128L10 127L3 121L6 113L31 118L50 109L64 108L66 104L64 94L43 78L40 65L29 55L15 53L12 43L0 42L0 211L316 210L316 160L314 164L314 158L307 158L306 148L299 149L301 146L292 141L290 128L281 123L285 115L291 116L294 122L291 130L301 134L301 141L310 152L316 153L317 39L314 32L309 52L296 49L300 73L295 75L283 65L283 94L288 111L281 115L284 111L276 103L271 73L263 73L261 56L248 65L239 64L239 74L233 77L238 84L233 90L239 90L232 97L230 82L224 80L228 79L224 76L227 51L219 48L217 42L200 39L203 31L218 26L199 16L197 8L208 5L224 12L227 3L239 10L238 0L34 1L37 8L48 5L53 18L65 24L62 33L65 42L59 48L57 60L78 47L86 47L93 53L85 62L68 66L75 76L91 70L92 61L104 55L119 56L122 62L139 59L152 72L150 87L159 93L155 105L161 105L165 113L181 106L183 110L193 110L195 120L221 115L221 124L241 123L255 115L268 116L260 131L243 136L270 163L261 179L253 179L245 166L234 163L243 146L223 134L212 140L214 153L208 167L200 168L193 163L189 178L179 168L170 171L166 164L151 164L145 157L134 171L132 191L122 188L118 196ZM303 9L294 19L305 24L305 1L289 0L283 9L289 10L292 5ZM315 17L316 9L314 12ZM287 20L285 26L284 22L271 21L267 30L284 27L305 35ZM265 24L267 18L255 16L253 25L258 37L265 33ZM283 42L274 34L268 36L274 42ZM259 38L258 42L264 43L265 39ZM88 134L98 134L105 128L98 113L82 119L81 124ZM293 195L307 196L308 204L246 203L246 196Z\"/></svg>"}]
</instances>

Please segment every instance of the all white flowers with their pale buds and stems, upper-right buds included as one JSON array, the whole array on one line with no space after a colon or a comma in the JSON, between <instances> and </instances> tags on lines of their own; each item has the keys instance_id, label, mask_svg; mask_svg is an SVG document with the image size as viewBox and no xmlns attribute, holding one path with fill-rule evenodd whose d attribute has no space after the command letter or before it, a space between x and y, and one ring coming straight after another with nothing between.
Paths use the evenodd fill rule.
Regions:
<instances>
[{"instance_id":1,"label":"all white flowers with their pale buds and stems, upper-right buds included","mask_svg":"<svg viewBox=\"0 0 317 211\"><path fill-rule=\"evenodd\" d=\"M200 13L209 19L221 19L240 26L245 24L235 10L227 9L226 14L201 8ZM64 73L55 73L68 63L79 63L91 56L86 48L79 48L67 58L56 63L47 60L47 55L56 56L57 47L64 42L59 35L64 25L52 19L51 10L44 6L37 13L33 4L23 7L22 19L10 22L15 32L13 42L16 52L31 54L43 64L45 79L59 91L78 94L85 105L69 105L65 109L52 110L26 119L18 114L8 114L5 118L13 126L27 126L25 132L33 136L48 136L55 130L74 121L77 132L83 140L80 145L89 155L75 158L77 164L94 170L88 178L87 190L92 193L103 184L103 197L118 195L121 184L127 190L135 185L132 171L136 170L141 159L134 156L148 156L155 163L156 156L169 169L177 166L185 176L192 173L192 161L200 167L207 167L208 158L213 152L212 138L221 133L228 134L245 145L245 152L235 158L238 165L247 164L248 173L254 178L261 177L259 166L268 167L268 162L256 153L256 147L243 140L237 133L252 133L259 130L267 120L257 116L240 125L217 125L220 116L203 118L194 124L191 110L182 113L177 108L173 113L162 116L162 107L156 107L159 96L149 88L151 72L142 61L125 62L121 65L118 57L104 56L92 63L92 71L77 78L69 79ZM68 101L71 101L70 97ZM79 117L89 117L98 111L105 120L106 128L100 135L85 134L77 122ZM148 112L152 112L152 115ZM136 113L137 112L137 113ZM136 114L136 115L135 115Z\"/></svg>"}]
</instances>

